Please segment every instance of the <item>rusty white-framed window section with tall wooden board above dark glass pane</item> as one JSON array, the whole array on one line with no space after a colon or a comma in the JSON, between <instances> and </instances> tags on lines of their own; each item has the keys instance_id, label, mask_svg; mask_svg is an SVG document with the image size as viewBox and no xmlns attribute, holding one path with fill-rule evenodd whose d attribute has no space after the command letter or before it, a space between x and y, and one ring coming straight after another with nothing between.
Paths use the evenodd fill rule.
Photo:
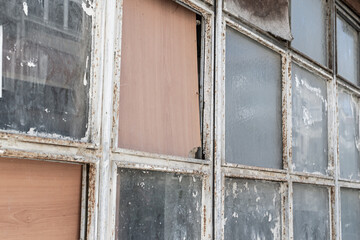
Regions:
<instances>
[{"instance_id":1,"label":"rusty white-framed window section with tall wooden board above dark glass pane","mask_svg":"<svg viewBox=\"0 0 360 240\"><path fill-rule=\"evenodd\" d=\"M213 12L192 1L121 2L115 238L207 239Z\"/></svg>"}]
</instances>

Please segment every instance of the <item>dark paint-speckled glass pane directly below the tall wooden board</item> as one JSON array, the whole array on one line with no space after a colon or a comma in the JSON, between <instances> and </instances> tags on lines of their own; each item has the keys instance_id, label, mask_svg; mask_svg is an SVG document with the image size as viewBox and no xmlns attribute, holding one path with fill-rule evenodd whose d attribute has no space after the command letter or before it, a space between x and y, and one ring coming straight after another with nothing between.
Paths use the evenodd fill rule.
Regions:
<instances>
[{"instance_id":1,"label":"dark paint-speckled glass pane directly below the tall wooden board","mask_svg":"<svg viewBox=\"0 0 360 240\"><path fill-rule=\"evenodd\" d=\"M117 238L200 239L200 177L119 170Z\"/></svg>"}]
</instances>

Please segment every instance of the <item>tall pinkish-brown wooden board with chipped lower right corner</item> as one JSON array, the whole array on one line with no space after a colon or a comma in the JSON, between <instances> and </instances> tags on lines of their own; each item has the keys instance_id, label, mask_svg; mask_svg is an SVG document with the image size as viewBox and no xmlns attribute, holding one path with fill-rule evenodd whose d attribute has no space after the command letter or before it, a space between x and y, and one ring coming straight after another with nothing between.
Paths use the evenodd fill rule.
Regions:
<instances>
[{"instance_id":1,"label":"tall pinkish-brown wooden board with chipped lower right corner","mask_svg":"<svg viewBox=\"0 0 360 240\"><path fill-rule=\"evenodd\" d=\"M201 146L196 14L124 0L119 147L188 157Z\"/></svg>"}]
</instances>

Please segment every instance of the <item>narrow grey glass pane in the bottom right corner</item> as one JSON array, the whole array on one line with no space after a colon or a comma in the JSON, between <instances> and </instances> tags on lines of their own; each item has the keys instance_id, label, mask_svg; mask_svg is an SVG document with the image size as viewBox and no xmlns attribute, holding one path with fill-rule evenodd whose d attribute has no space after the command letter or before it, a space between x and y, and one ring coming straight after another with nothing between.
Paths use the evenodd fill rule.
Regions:
<instances>
[{"instance_id":1,"label":"narrow grey glass pane in the bottom right corner","mask_svg":"<svg viewBox=\"0 0 360 240\"><path fill-rule=\"evenodd\" d=\"M360 191L341 189L341 236L353 240L360 236Z\"/></svg>"}]
</instances>

